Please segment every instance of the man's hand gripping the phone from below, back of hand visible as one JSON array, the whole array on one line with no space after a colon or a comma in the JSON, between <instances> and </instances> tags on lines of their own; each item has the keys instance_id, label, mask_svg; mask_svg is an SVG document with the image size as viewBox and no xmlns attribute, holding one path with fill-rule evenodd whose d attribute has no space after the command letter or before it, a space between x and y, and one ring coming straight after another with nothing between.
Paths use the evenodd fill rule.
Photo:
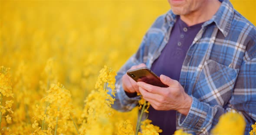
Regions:
<instances>
[{"instance_id":1,"label":"man's hand gripping the phone from below, back of hand visible","mask_svg":"<svg viewBox=\"0 0 256 135\"><path fill-rule=\"evenodd\" d=\"M192 97L185 93L177 80L161 75L160 80L169 87L157 87L144 82L138 82L139 91L156 110L177 110L183 115L188 114L192 104Z\"/></svg>"}]
</instances>

